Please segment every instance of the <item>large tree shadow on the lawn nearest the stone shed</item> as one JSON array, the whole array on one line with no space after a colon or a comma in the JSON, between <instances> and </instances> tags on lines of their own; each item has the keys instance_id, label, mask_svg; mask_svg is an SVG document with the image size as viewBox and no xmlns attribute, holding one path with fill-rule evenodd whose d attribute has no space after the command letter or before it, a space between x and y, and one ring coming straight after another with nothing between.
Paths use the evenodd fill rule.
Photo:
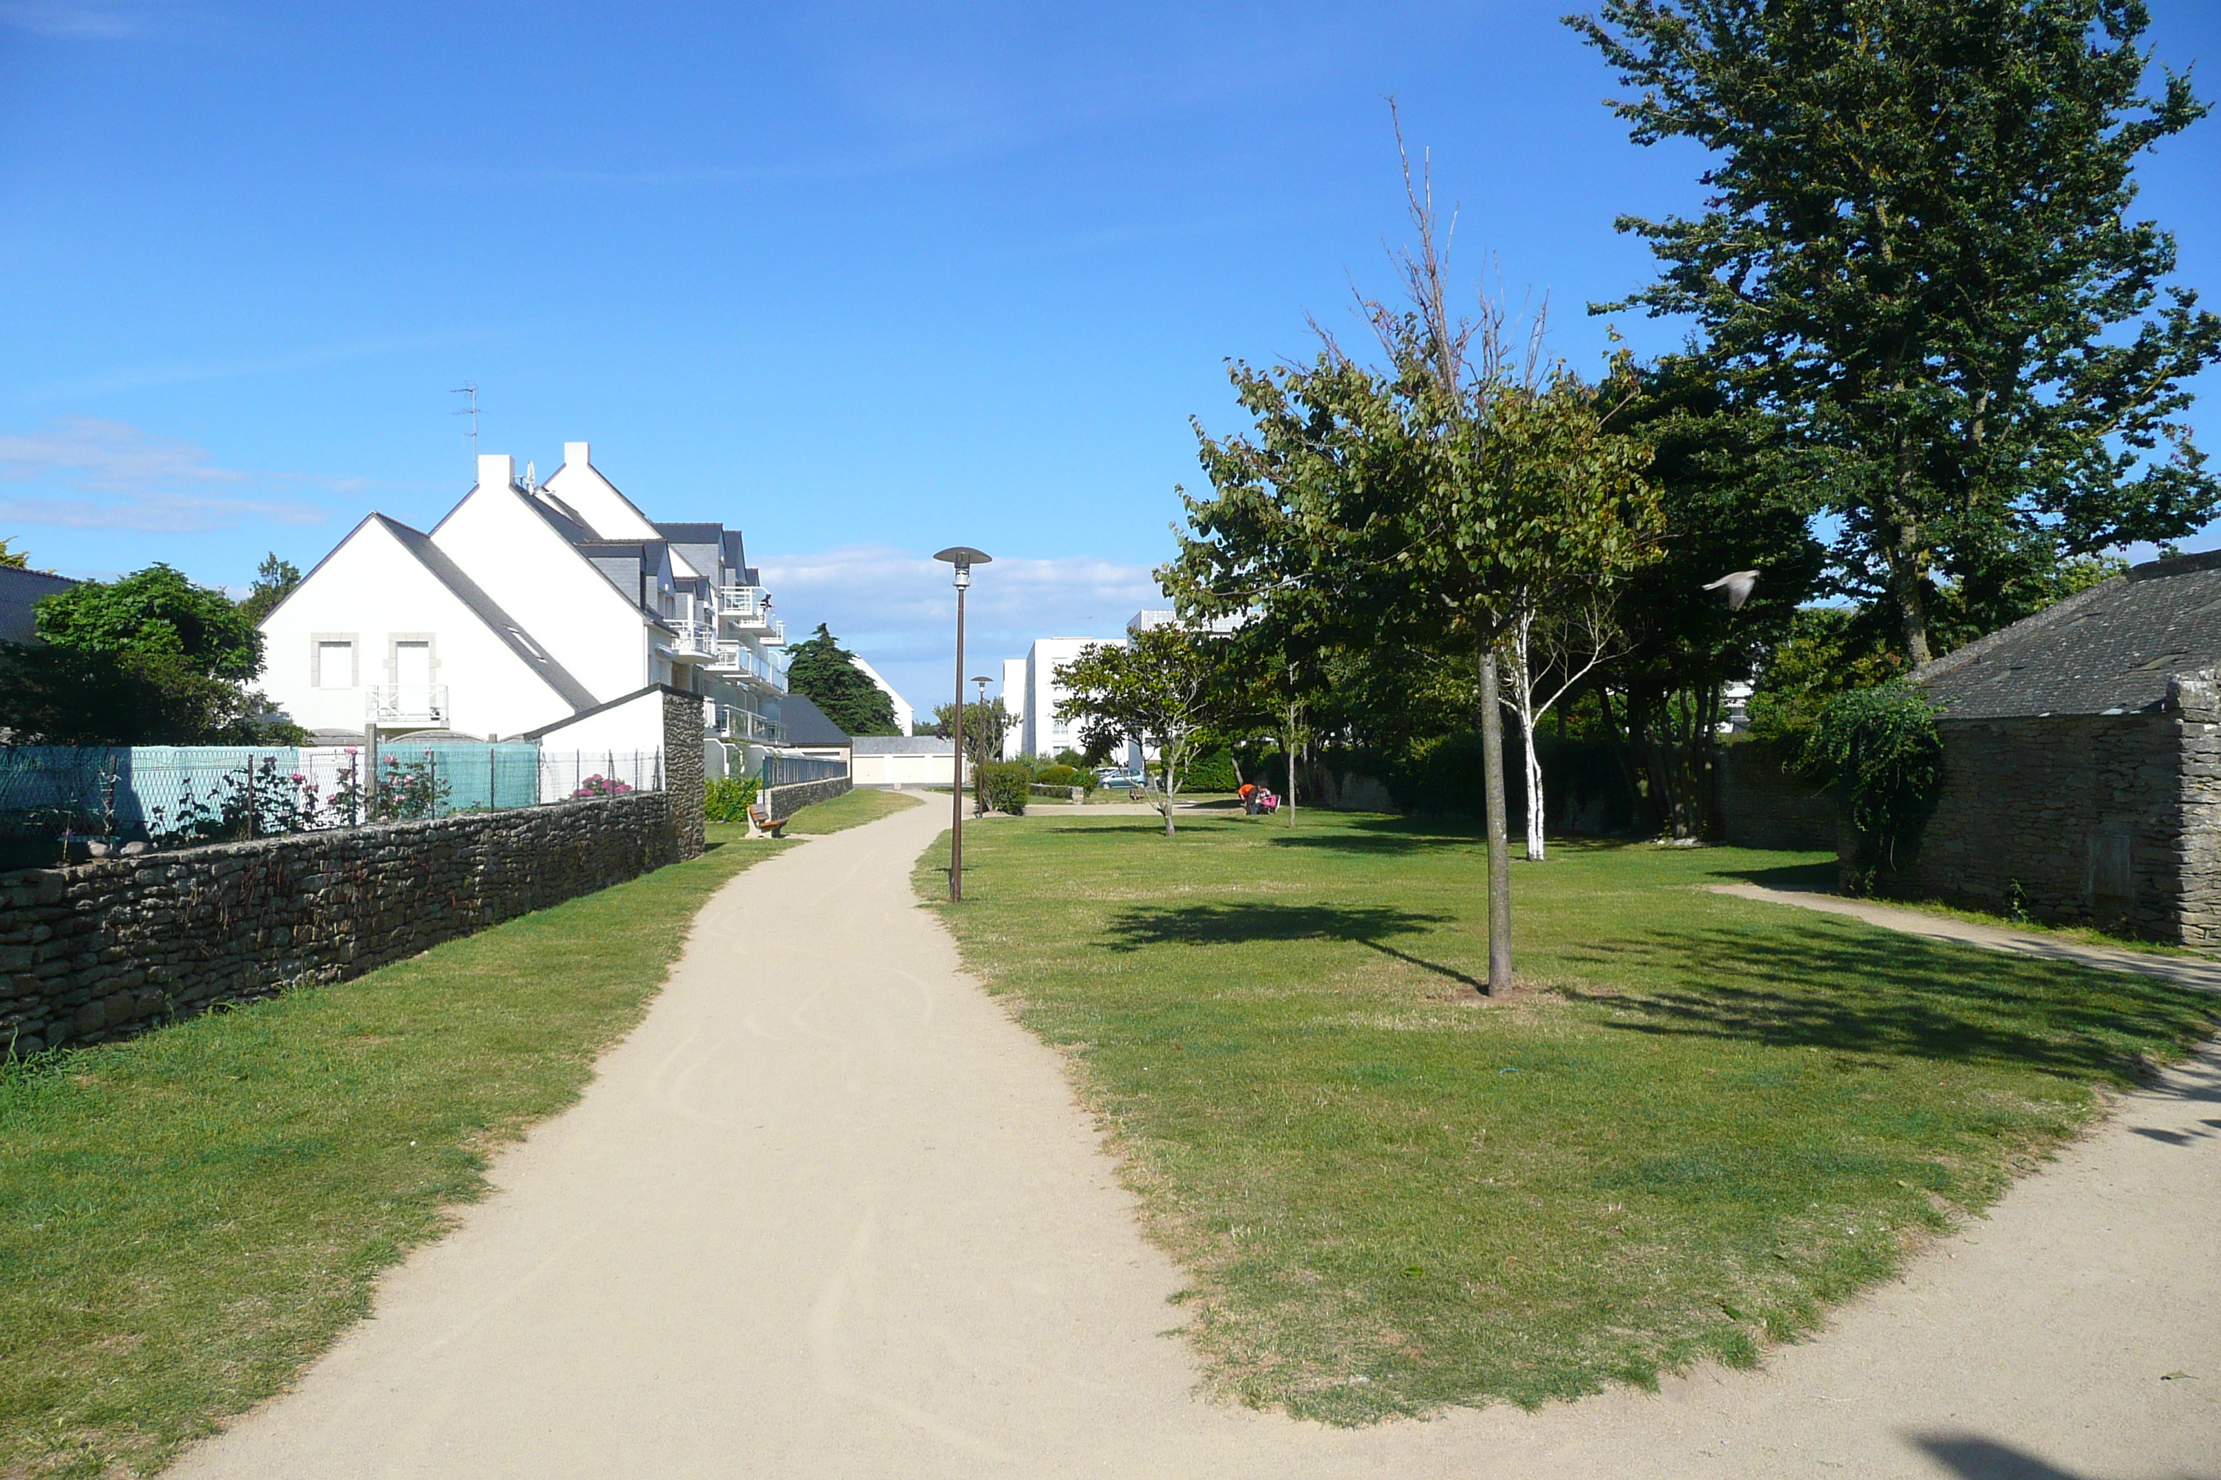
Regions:
<instances>
[{"instance_id":1,"label":"large tree shadow on the lawn nearest the stone shed","mask_svg":"<svg viewBox=\"0 0 2221 1480\"><path fill-rule=\"evenodd\" d=\"M2212 1030L2214 999L2125 972L2094 972L1937 947L1810 921L1750 934L1721 927L1630 930L1566 947L1584 976L1566 985L1608 1007L1612 1027L1743 1038L1768 1047L2130 1076L2141 1050ZM1641 985L1632 985L1641 983Z\"/></svg>"}]
</instances>

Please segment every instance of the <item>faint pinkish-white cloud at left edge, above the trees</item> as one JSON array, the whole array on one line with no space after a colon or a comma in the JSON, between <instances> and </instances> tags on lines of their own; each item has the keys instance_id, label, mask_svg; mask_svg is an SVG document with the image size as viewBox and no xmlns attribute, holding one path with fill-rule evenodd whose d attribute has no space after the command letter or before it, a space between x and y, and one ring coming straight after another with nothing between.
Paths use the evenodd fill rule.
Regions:
<instances>
[{"instance_id":1,"label":"faint pinkish-white cloud at left edge, above the trees","mask_svg":"<svg viewBox=\"0 0 2221 1480\"><path fill-rule=\"evenodd\" d=\"M0 437L0 484L67 495L0 497L0 519L64 528L184 535L235 524L320 524L324 510L273 497L293 475L220 468L207 448L151 437L127 422L64 417L40 433Z\"/></svg>"}]
</instances>

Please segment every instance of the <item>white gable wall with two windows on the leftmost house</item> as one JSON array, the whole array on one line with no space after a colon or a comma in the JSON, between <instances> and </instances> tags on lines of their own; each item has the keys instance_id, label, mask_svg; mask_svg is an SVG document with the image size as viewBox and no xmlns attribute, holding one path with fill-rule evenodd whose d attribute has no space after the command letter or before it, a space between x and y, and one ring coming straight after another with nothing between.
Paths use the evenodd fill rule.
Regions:
<instances>
[{"instance_id":1,"label":"white gable wall with two windows on the leftmost house","mask_svg":"<svg viewBox=\"0 0 2221 1480\"><path fill-rule=\"evenodd\" d=\"M380 519L262 624L262 688L309 730L362 730L366 688L446 688L444 728L520 734L571 712ZM422 677L418 677L422 675Z\"/></svg>"}]
</instances>

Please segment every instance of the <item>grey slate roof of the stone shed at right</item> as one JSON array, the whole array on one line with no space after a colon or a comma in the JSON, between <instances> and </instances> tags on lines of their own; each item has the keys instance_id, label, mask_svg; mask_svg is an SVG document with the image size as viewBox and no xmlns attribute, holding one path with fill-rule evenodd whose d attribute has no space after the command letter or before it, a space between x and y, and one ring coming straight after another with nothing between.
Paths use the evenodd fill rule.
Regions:
<instances>
[{"instance_id":1,"label":"grey slate roof of the stone shed at right","mask_svg":"<svg viewBox=\"0 0 2221 1480\"><path fill-rule=\"evenodd\" d=\"M2132 714L2221 666L2221 550L2154 559L1946 652L1912 679L1954 719Z\"/></svg>"}]
</instances>

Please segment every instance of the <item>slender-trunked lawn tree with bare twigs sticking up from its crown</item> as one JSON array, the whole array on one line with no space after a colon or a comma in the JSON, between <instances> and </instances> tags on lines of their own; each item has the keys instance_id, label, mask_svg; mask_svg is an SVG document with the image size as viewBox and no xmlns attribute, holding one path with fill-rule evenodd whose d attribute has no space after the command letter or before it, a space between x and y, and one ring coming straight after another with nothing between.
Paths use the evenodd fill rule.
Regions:
<instances>
[{"instance_id":1,"label":"slender-trunked lawn tree with bare twigs sticking up from its crown","mask_svg":"<svg viewBox=\"0 0 2221 1480\"><path fill-rule=\"evenodd\" d=\"M1308 368L1233 366L1255 430L1202 435L1210 499L1186 499L1173 577L1217 610L1264 610L1290 632L1353 646L1430 646L1479 679L1488 814L1488 990L1510 987L1510 850L1497 650L1521 608L1637 559L1639 448L1595 450L1595 484L1535 462L1590 391L1541 366L1541 324L1524 346L1501 306L1450 306L1430 186L1404 171L1417 249L1397 255L1406 306L1361 300L1384 366L1359 366L1321 333ZM1524 351L1524 355L1521 355ZM1621 362L1624 364L1624 362ZM1624 368L1621 368L1624 373ZM1570 442L1579 444L1579 437Z\"/></svg>"}]
</instances>

